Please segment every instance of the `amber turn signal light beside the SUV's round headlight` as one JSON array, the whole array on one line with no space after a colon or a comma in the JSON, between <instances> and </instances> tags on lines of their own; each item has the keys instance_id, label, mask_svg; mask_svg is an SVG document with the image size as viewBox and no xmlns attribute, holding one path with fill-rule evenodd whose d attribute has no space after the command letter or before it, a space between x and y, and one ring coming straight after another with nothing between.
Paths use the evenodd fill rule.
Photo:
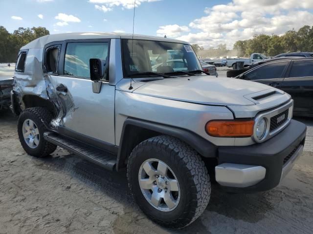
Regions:
<instances>
[{"instance_id":1,"label":"amber turn signal light beside the SUV's round headlight","mask_svg":"<svg viewBox=\"0 0 313 234\"><path fill-rule=\"evenodd\" d=\"M205 130L212 137L251 137L253 126L253 120L212 120Z\"/></svg>"}]
</instances>

